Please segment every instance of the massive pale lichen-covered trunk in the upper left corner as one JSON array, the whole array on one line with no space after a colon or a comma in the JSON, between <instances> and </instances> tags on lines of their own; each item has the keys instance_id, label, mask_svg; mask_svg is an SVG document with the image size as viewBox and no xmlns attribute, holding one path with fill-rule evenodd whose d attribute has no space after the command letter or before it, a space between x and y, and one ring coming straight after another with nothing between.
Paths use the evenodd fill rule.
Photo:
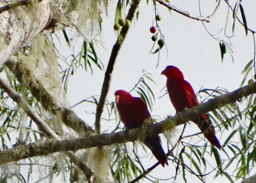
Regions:
<instances>
[{"instance_id":1,"label":"massive pale lichen-covered trunk in the upper left corner","mask_svg":"<svg viewBox=\"0 0 256 183\"><path fill-rule=\"evenodd\" d=\"M5 5L8 1L0 2L0 6ZM30 6L18 5L9 5L11 10L0 14L0 65L42 32L52 18L53 3L50 0L33 1Z\"/></svg>"}]
</instances>

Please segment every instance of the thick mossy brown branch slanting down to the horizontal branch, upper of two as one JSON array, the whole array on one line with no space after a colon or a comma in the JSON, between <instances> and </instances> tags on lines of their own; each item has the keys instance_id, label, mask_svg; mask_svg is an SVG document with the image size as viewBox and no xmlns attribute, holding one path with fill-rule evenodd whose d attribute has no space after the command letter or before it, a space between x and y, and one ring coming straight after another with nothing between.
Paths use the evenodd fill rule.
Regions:
<instances>
[{"instance_id":1,"label":"thick mossy brown branch slanting down to the horizontal branch, upper of two","mask_svg":"<svg viewBox=\"0 0 256 183\"><path fill-rule=\"evenodd\" d=\"M52 114L58 114L62 117L63 123L72 128L80 136L90 135L94 131L76 114L63 106L43 87L42 83L31 74L31 72L23 67L15 58L11 58L5 65L15 75L17 80L28 87L32 95L42 104L46 111Z\"/></svg>"}]
</instances>

